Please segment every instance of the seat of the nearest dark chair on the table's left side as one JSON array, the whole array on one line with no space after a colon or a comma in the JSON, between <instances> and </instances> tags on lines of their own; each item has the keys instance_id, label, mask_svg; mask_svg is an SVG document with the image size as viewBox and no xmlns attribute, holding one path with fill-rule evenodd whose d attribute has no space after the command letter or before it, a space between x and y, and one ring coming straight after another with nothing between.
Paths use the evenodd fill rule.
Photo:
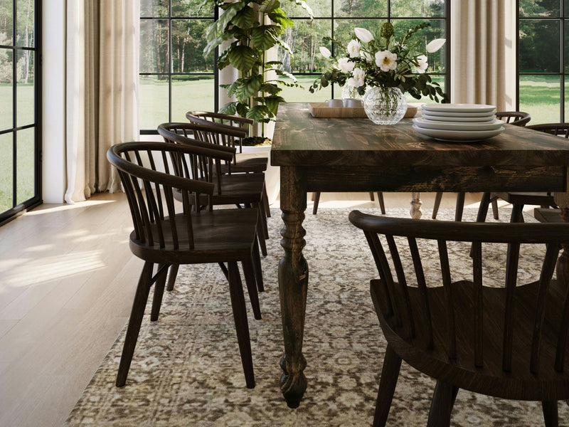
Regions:
<instances>
[{"instance_id":1,"label":"seat of the nearest dark chair on the table's left side","mask_svg":"<svg viewBox=\"0 0 569 427\"><path fill-rule=\"evenodd\" d=\"M156 226L152 228L155 241L148 246L130 235L130 248L134 255L153 263L196 264L223 263L248 258L252 253L257 229L257 209L218 209L192 212L194 247L188 245L188 226L183 214L176 216L179 248L169 226L169 217L162 220L164 247L160 247Z\"/></svg>"}]
</instances>

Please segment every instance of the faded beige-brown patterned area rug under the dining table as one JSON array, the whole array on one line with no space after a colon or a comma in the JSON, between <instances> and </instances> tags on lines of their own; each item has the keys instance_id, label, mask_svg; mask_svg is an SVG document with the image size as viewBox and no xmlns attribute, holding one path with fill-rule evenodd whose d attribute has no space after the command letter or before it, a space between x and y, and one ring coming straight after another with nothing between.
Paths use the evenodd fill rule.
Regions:
<instances>
[{"instance_id":1,"label":"faded beige-brown patterned area rug under the dining table","mask_svg":"<svg viewBox=\"0 0 569 427\"><path fill-rule=\"evenodd\" d=\"M159 320L144 318L127 385L115 387L123 331L65 426L370 426L386 344L369 296L369 280L377 272L363 233L348 221L349 211L320 209L317 216L307 211L304 221L310 275L303 350L308 389L299 408L287 408L278 386L282 220L280 211L272 210L269 254L262 259L262 320L253 319L248 305L255 389L245 388L223 274L217 265L182 267L175 289L166 292ZM378 209L365 211L379 214ZM408 217L408 209L388 215ZM430 212L423 215L428 218ZM442 210L438 218L453 215ZM465 220L475 216L474 209L465 209ZM501 218L507 221L509 212L502 209ZM488 253L485 268L504 265L504 252ZM537 260L542 254L529 255ZM427 264L436 270L435 253L431 258ZM526 268L526 273L535 271ZM388 426L425 426L434 386L434 380L403 362ZM568 406L559 406L561 424L569 423ZM540 404L461 390L452 425L541 426L543 418Z\"/></svg>"}]
</instances>

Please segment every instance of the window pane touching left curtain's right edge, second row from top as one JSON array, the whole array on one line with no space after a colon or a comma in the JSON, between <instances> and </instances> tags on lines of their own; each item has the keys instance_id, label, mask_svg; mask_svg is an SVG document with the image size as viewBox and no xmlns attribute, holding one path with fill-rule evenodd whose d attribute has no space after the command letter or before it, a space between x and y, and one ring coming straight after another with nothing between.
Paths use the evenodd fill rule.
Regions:
<instances>
[{"instance_id":1,"label":"window pane touching left curtain's right edge, second row from top","mask_svg":"<svg viewBox=\"0 0 569 427\"><path fill-rule=\"evenodd\" d=\"M168 73L168 21L140 21L140 72Z\"/></svg>"}]
</instances>

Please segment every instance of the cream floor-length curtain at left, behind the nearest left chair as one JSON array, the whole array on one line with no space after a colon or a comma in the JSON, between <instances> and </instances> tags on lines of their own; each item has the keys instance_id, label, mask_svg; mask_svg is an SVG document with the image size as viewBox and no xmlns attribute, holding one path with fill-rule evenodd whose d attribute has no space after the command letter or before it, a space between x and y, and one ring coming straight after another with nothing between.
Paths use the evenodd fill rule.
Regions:
<instances>
[{"instance_id":1,"label":"cream floor-length curtain at left, behind the nearest left chair","mask_svg":"<svg viewBox=\"0 0 569 427\"><path fill-rule=\"evenodd\" d=\"M65 201L119 191L107 149L136 140L139 2L68 0Z\"/></svg>"}]
</instances>

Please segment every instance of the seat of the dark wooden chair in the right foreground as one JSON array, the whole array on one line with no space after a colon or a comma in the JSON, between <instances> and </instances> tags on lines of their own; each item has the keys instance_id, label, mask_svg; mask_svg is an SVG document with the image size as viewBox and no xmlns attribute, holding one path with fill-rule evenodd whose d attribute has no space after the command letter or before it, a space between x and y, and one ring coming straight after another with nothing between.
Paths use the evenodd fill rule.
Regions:
<instances>
[{"instance_id":1,"label":"seat of the dark wooden chair in the right foreground","mask_svg":"<svg viewBox=\"0 0 569 427\"><path fill-rule=\"evenodd\" d=\"M565 359L565 372L553 369L555 345L558 334L551 325L559 324L559 316L565 299L565 293L558 283L551 283L550 295L546 300L546 320L543 325L541 340L540 371L536 376L529 370L529 354L534 318L529 313L535 312L538 283L531 283L516 288L514 310L513 358L511 373L502 370L502 345L504 341L504 288L483 288L484 304L484 366L474 367L474 301L472 282L461 281L452 285L454 319L457 328L457 359L447 356L448 342L447 312L445 290L442 287L428 288L432 330L435 333L433 350L426 350L422 337L425 322L422 322L422 302L418 288L408 288L410 306L415 319L416 338L408 338L408 325L396 326L393 317L385 318L386 310L381 309L380 322L388 342L405 362L425 374L445 381L460 389L467 389L489 396L506 399L548 401L569 398L569 361ZM403 295L400 285L395 284L397 292ZM386 295L380 280L372 280L372 295L378 305L382 305ZM553 314L552 314L553 313ZM422 350L425 349L425 350Z\"/></svg>"}]
</instances>

